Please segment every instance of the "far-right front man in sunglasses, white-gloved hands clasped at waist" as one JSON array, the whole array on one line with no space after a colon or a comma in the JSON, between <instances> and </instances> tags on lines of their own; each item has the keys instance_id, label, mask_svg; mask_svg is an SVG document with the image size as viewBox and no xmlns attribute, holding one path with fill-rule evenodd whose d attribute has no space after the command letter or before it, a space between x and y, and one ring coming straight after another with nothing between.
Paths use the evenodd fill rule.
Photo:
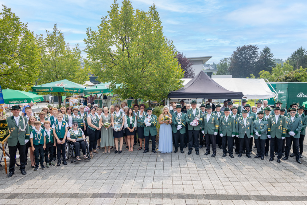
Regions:
<instances>
[{"instance_id":1,"label":"far-right front man in sunglasses, white-gloved hands clasped at waist","mask_svg":"<svg viewBox=\"0 0 307 205\"><path fill-rule=\"evenodd\" d=\"M299 151L299 141L300 141L300 132L303 127L302 119L298 116L295 116L296 108L290 109L290 116L286 117L287 119L287 134L286 134L286 150L285 156L282 160L287 160L289 158L289 152L291 144L293 142L293 153L295 154L295 159L298 164L301 164L300 160L300 151Z\"/></svg>"}]
</instances>

